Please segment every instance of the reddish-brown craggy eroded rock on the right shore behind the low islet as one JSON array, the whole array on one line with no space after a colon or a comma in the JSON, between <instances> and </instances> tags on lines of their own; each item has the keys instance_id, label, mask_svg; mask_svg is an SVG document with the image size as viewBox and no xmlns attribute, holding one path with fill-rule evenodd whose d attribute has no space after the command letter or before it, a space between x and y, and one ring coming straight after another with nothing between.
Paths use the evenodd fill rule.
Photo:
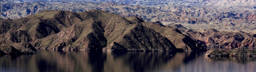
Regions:
<instances>
[{"instance_id":1,"label":"reddish-brown craggy eroded rock on the right shore behind the low islet","mask_svg":"<svg viewBox=\"0 0 256 72\"><path fill-rule=\"evenodd\" d=\"M205 42L208 47L213 48L226 48L234 49L237 47L248 47L249 49L256 49L256 38L254 34L239 32L227 32L227 31L216 31L210 29L202 33L203 37L195 37L196 35L192 32L188 32L193 38L198 41ZM195 36L193 36L195 35Z\"/></svg>"}]
</instances>

